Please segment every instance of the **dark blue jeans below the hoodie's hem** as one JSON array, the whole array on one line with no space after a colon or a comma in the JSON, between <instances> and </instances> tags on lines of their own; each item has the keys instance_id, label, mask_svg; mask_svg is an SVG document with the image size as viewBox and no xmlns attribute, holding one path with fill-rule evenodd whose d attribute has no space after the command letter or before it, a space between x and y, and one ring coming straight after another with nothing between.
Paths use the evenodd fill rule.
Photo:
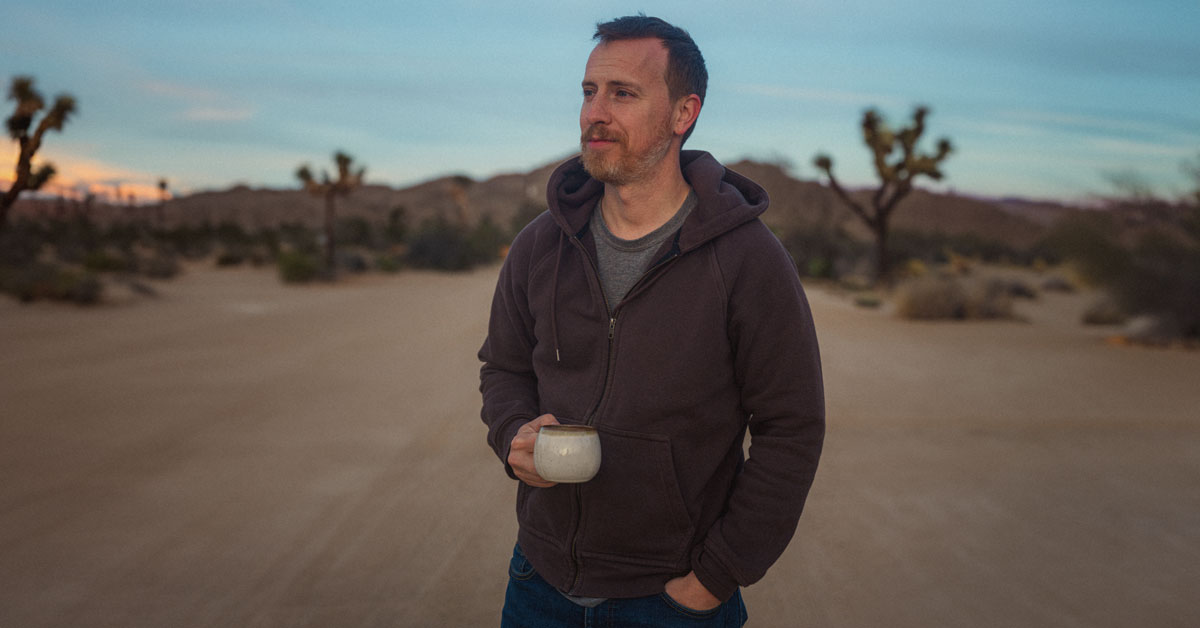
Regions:
<instances>
[{"instance_id":1,"label":"dark blue jeans below the hoodie's hem","mask_svg":"<svg viewBox=\"0 0 1200 628\"><path fill-rule=\"evenodd\" d=\"M610 599L592 609L580 606L542 580L518 545L509 563L500 628L740 628L745 622L740 591L725 604L704 611L683 606L666 593Z\"/></svg>"}]
</instances>

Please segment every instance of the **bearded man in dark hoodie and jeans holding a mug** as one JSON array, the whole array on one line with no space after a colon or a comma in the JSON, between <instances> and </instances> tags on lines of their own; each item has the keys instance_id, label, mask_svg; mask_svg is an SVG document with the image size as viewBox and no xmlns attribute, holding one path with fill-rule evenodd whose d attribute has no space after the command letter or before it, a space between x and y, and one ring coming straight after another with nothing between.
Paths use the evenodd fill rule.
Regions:
<instances>
[{"instance_id":1,"label":"bearded man in dark hoodie and jeans holding a mug","mask_svg":"<svg viewBox=\"0 0 1200 628\"><path fill-rule=\"evenodd\" d=\"M636 16L595 38L581 155L515 239L479 353L487 439L520 480L503 624L740 626L821 453L812 319L766 192L682 151L708 82L691 37ZM590 482L538 476L556 423L599 430Z\"/></svg>"}]
</instances>

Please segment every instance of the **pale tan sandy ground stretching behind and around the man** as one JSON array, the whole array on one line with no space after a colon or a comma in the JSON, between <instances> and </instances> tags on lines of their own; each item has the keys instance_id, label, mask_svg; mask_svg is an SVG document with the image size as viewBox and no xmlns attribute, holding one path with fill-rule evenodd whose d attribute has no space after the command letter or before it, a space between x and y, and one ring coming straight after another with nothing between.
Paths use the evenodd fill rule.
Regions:
<instances>
[{"instance_id":1,"label":"pale tan sandy ground stretching behind and around the man","mask_svg":"<svg viewBox=\"0 0 1200 628\"><path fill-rule=\"evenodd\" d=\"M494 277L0 300L0 627L498 624ZM1085 295L1024 323L810 299L826 455L750 626L1195 626L1200 352L1108 346Z\"/></svg>"}]
</instances>

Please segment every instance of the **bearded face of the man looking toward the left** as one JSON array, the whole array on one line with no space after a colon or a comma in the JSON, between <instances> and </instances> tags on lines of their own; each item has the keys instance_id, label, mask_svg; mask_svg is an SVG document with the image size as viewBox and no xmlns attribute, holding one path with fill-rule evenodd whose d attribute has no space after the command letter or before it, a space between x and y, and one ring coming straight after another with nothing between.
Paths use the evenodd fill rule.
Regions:
<instances>
[{"instance_id":1,"label":"bearded face of the man looking toward the left","mask_svg":"<svg viewBox=\"0 0 1200 628\"><path fill-rule=\"evenodd\" d=\"M588 56L580 109L583 167L612 185L644 180L672 150L667 50L656 38L601 43Z\"/></svg>"}]
</instances>

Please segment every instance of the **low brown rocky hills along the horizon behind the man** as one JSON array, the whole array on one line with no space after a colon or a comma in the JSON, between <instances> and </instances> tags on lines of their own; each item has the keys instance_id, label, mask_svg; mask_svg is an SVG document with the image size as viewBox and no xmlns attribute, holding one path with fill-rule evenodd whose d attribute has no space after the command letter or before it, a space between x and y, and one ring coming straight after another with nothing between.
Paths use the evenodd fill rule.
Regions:
<instances>
[{"instance_id":1,"label":"low brown rocky hills along the horizon behind the man","mask_svg":"<svg viewBox=\"0 0 1200 628\"><path fill-rule=\"evenodd\" d=\"M337 211L340 217L361 216L382 223L392 209L402 207L414 227L436 215L466 225L491 216L497 225L508 226L522 208L529 211L546 207L546 183L556 166L547 163L530 172L500 174L480 181L451 175L404 189L367 185L338 198ZM868 238L865 228L827 186L796 179L770 163L739 161L730 168L758 181L767 190L772 203L763 220L772 227L791 231L841 226L853 235ZM866 201L870 191L854 193ZM156 204L122 207L97 203L88 211L102 223L131 219L155 221L161 211L168 226L232 221L247 229L257 229L284 222L316 227L322 221L322 199L299 190L235 186L173 198L161 208ZM23 199L13 215L62 215L82 210L83 204L73 201ZM1072 211L1070 208L1049 203L990 201L917 190L896 210L893 228L949 235L977 233L1014 246L1026 246L1044 233L1046 226Z\"/></svg>"}]
</instances>

